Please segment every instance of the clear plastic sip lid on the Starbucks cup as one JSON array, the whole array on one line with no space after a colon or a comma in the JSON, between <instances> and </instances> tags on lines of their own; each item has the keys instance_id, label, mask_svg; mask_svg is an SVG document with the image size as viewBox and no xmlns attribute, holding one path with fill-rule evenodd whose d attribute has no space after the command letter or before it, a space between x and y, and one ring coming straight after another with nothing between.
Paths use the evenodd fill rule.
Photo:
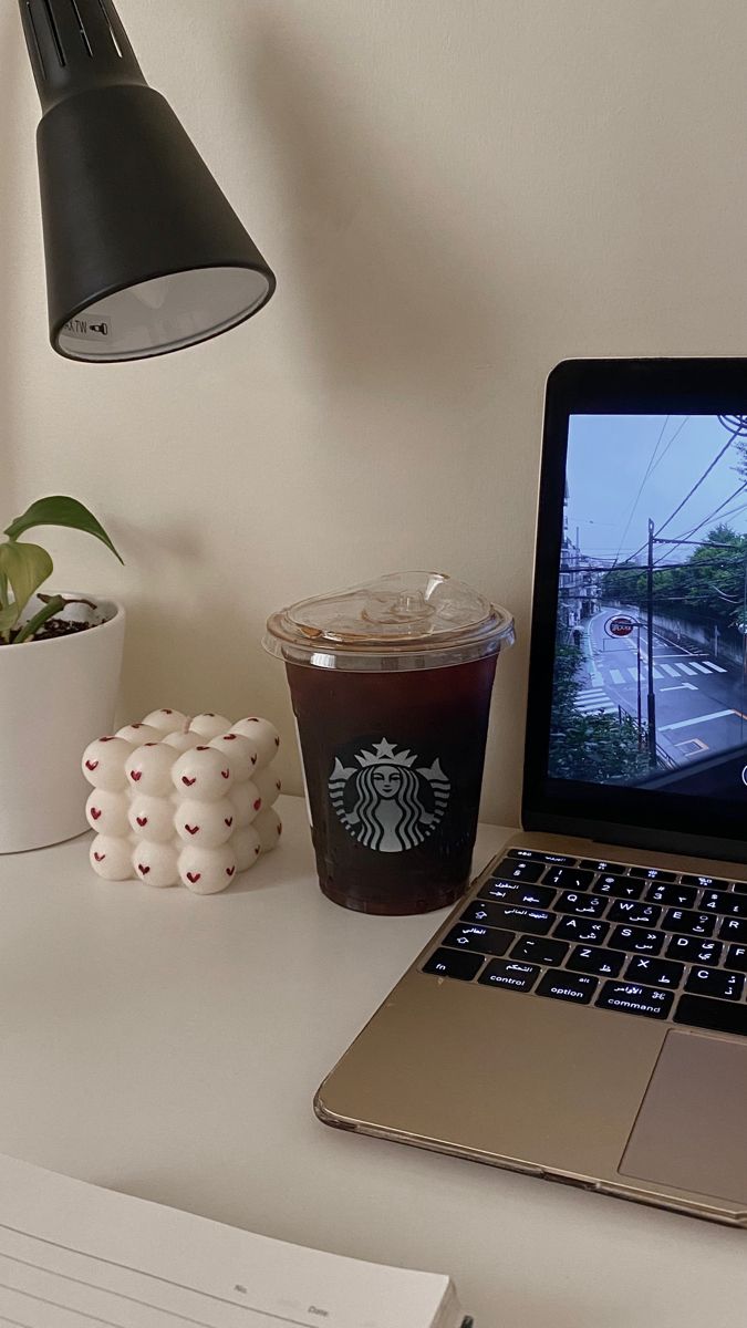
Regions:
<instances>
[{"instance_id":1,"label":"clear plastic sip lid on the Starbucks cup","mask_svg":"<svg viewBox=\"0 0 747 1328\"><path fill-rule=\"evenodd\" d=\"M444 668L513 644L513 618L441 572L392 572L300 600L267 620L263 645L315 668Z\"/></svg>"}]
</instances>

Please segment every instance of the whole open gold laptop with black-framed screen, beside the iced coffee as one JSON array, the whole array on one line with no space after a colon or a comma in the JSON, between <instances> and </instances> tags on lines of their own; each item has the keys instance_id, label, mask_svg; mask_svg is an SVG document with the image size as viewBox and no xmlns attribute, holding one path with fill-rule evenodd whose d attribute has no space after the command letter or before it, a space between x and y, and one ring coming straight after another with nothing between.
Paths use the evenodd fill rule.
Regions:
<instances>
[{"instance_id":1,"label":"whole open gold laptop with black-framed screen, beside the iced coffee","mask_svg":"<svg viewBox=\"0 0 747 1328\"><path fill-rule=\"evenodd\" d=\"M546 385L522 829L322 1084L346 1130L747 1227L747 361Z\"/></svg>"}]
</instances>

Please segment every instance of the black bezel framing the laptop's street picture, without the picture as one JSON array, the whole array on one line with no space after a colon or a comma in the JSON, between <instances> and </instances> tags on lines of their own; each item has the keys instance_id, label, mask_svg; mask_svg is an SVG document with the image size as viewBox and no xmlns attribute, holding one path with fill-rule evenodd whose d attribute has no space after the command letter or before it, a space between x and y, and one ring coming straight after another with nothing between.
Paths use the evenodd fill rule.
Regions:
<instances>
[{"instance_id":1,"label":"black bezel framing the laptop's street picture, without the picture","mask_svg":"<svg viewBox=\"0 0 747 1328\"><path fill-rule=\"evenodd\" d=\"M550 716L569 420L574 414L747 414L746 359L564 360L548 377L537 514L522 825L609 843L747 862L747 790L691 793L550 780Z\"/></svg>"}]
</instances>

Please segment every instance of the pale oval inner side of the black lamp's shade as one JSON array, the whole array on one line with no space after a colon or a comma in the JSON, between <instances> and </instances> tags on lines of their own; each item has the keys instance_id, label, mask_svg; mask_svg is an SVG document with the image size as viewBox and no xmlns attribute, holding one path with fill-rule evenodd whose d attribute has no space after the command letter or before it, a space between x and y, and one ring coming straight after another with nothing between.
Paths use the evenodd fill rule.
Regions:
<instances>
[{"instance_id":1,"label":"pale oval inner side of the black lamp's shade","mask_svg":"<svg viewBox=\"0 0 747 1328\"><path fill-rule=\"evenodd\" d=\"M56 349L76 360L140 360L205 341L265 303L265 272L206 267L169 272L96 300L56 333Z\"/></svg>"}]
</instances>

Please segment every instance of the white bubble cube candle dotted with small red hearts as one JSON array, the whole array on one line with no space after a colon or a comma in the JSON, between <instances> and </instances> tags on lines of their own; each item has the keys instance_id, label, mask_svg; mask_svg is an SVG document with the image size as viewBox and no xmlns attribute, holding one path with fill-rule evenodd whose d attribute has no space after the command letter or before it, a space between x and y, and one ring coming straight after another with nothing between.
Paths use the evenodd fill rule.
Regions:
<instances>
[{"instance_id":1,"label":"white bubble cube candle dotted with small red hearts","mask_svg":"<svg viewBox=\"0 0 747 1328\"><path fill-rule=\"evenodd\" d=\"M93 785L86 817L96 874L158 888L181 883L195 895L226 890L280 837L272 806L279 745L268 720L231 725L223 714L169 709L90 742L82 773Z\"/></svg>"}]
</instances>

